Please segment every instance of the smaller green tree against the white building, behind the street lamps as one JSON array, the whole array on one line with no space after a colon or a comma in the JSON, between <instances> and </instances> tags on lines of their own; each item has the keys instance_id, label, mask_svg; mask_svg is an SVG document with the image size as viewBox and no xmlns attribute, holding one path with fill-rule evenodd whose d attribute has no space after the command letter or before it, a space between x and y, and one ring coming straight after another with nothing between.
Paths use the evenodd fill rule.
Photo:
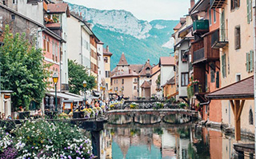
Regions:
<instances>
[{"instance_id":1,"label":"smaller green tree against the white building, behind the street lamps","mask_svg":"<svg viewBox=\"0 0 256 159\"><path fill-rule=\"evenodd\" d=\"M86 80L86 89L93 89L96 85L95 77L89 76L87 70L84 66L78 64L78 62L69 60L68 61L69 70L69 87L70 93L79 94L83 91L82 82Z\"/></svg>"}]
</instances>

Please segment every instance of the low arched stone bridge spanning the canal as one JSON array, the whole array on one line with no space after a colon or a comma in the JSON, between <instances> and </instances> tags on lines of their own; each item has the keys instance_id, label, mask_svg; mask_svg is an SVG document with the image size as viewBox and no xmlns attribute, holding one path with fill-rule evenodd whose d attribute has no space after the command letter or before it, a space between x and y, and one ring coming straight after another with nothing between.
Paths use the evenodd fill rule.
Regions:
<instances>
[{"instance_id":1,"label":"low arched stone bridge spanning the canal","mask_svg":"<svg viewBox=\"0 0 256 159\"><path fill-rule=\"evenodd\" d=\"M123 125L138 123L143 125L166 122L184 124L198 119L198 112L189 109L117 109L106 113L108 123Z\"/></svg>"}]
</instances>

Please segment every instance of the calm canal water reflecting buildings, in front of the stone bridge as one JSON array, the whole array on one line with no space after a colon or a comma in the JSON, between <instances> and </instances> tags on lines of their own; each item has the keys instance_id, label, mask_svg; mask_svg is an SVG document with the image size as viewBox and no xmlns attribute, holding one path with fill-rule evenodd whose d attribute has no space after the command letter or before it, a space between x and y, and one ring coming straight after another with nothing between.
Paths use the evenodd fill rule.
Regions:
<instances>
[{"instance_id":1,"label":"calm canal water reflecting buildings, in front of the stone bridge","mask_svg":"<svg viewBox=\"0 0 256 159\"><path fill-rule=\"evenodd\" d=\"M102 159L231 159L234 156L234 137L218 129L192 123L116 121L118 124L106 123L101 133ZM249 142L254 141L240 141Z\"/></svg>"}]
</instances>

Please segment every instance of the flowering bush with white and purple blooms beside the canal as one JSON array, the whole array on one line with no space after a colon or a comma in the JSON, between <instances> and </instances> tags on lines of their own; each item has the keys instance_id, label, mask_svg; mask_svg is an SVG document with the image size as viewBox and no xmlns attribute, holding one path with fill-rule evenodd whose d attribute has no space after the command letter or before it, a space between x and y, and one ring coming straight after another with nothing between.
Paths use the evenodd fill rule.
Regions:
<instances>
[{"instance_id":1,"label":"flowering bush with white and purple blooms beside the canal","mask_svg":"<svg viewBox=\"0 0 256 159\"><path fill-rule=\"evenodd\" d=\"M91 141L76 125L26 121L10 133L0 129L0 158L93 158Z\"/></svg>"}]
</instances>

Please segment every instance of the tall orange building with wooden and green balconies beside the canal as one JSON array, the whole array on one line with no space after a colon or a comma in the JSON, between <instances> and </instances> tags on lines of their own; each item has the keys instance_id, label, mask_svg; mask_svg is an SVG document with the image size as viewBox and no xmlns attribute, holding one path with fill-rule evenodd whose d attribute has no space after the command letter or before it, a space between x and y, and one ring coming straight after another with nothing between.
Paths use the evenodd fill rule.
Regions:
<instances>
[{"instance_id":1,"label":"tall orange building with wooden and green balconies beside the canal","mask_svg":"<svg viewBox=\"0 0 256 159\"><path fill-rule=\"evenodd\" d=\"M219 39L219 9L212 9L209 4L210 0L199 0L190 10L191 18L195 19L190 51L194 80L198 81L194 84L194 95L202 105L202 119L221 125L221 101L209 102L205 97L221 85L219 48L214 47Z\"/></svg>"}]
</instances>

